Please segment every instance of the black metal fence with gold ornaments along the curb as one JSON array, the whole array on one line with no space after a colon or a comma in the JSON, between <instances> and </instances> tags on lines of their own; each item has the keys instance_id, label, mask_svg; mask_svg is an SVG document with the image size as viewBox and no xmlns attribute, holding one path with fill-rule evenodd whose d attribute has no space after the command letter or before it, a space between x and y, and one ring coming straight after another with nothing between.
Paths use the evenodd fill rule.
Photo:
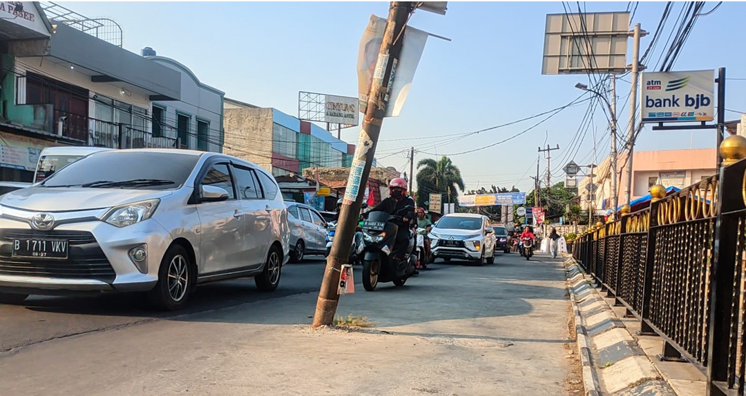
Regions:
<instances>
[{"instance_id":1,"label":"black metal fence with gold ornaments along the curb","mask_svg":"<svg viewBox=\"0 0 746 396\"><path fill-rule=\"evenodd\" d=\"M746 395L746 160L599 225L572 254L663 339L659 359L695 365L707 395Z\"/></svg>"}]
</instances>

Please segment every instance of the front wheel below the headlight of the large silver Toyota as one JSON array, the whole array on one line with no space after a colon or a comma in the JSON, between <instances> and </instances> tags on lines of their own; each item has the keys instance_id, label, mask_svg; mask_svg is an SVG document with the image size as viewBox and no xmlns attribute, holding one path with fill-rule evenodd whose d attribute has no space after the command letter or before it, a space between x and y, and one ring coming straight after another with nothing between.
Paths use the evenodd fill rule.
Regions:
<instances>
[{"instance_id":1,"label":"front wheel below the headlight of the large silver Toyota","mask_svg":"<svg viewBox=\"0 0 746 396\"><path fill-rule=\"evenodd\" d=\"M183 308L192 292L193 272L186 249L181 245L169 248L160 260L158 283L148 294L151 304L169 311Z\"/></svg>"}]
</instances>

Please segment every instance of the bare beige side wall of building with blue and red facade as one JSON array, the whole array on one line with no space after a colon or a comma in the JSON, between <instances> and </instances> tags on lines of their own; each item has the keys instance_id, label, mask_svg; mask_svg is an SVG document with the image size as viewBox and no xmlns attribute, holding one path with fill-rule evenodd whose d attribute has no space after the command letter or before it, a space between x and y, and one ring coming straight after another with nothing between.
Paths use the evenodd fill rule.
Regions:
<instances>
[{"instance_id":1,"label":"bare beige side wall of building with blue and red facade","mask_svg":"<svg viewBox=\"0 0 746 396\"><path fill-rule=\"evenodd\" d=\"M223 114L223 152L272 172L272 119L272 109L226 108Z\"/></svg>"}]
</instances>

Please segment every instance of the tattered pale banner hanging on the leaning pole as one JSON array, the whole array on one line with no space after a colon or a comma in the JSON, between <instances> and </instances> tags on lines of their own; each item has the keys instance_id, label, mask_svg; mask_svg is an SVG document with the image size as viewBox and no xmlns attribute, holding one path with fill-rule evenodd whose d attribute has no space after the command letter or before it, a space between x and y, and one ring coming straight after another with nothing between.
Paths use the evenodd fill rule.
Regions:
<instances>
[{"instance_id":1,"label":"tattered pale banner hanging on the leaning pole","mask_svg":"<svg viewBox=\"0 0 746 396\"><path fill-rule=\"evenodd\" d=\"M383 79L386 72L385 66L388 59L378 59L386 25L388 25L388 21L385 18L371 15L370 22L363 32L363 38L360 40L360 51L357 55L357 89L361 113L366 113L368 93L373 79ZM389 85L391 93L389 105L386 107L386 117L398 117L401 113L401 107L404 107L404 101L407 100L428 36L427 32L411 26L405 28L404 41L401 43L401 54L398 61L395 60L392 70L394 78L392 84Z\"/></svg>"}]
</instances>

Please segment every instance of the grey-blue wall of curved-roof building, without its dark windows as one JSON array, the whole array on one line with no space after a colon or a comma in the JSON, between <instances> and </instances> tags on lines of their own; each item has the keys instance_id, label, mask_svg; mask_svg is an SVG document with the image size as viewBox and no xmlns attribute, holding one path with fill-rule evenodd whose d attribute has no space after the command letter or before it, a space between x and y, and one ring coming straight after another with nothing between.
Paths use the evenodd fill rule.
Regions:
<instances>
[{"instance_id":1,"label":"grey-blue wall of curved-roof building, without its dark windows","mask_svg":"<svg viewBox=\"0 0 746 396\"><path fill-rule=\"evenodd\" d=\"M186 66L167 57L146 57L163 66L181 73L181 101L157 101L153 105L165 110L165 123L173 128L165 128L164 134L177 137L176 120L178 115L189 117L189 142L191 149L198 149L197 122L207 122L209 136L207 151L221 152L223 139L223 98L225 92L202 84ZM204 144L204 143L203 143Z\"/></svg>"}]
</instances>

